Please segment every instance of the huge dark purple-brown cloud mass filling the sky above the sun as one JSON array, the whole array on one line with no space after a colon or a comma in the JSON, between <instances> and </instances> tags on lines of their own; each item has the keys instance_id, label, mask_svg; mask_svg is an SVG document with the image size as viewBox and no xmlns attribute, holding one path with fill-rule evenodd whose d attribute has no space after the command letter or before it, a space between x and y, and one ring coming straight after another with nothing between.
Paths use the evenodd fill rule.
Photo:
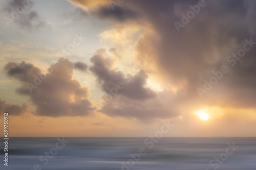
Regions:
<instances>
[{"instance_id":1,"label":"huge dark purple-brown cloud mass filling the sky above the sun","mask_svg":"<svg viewBox=\"0 0 256 170\"><path fill-rule=\"evenodd\" d=\"M205 1L195 17L177 31L174 22L182 23L181 14L199 1L127 1L127 7L144 13L161 41L152 43L151 35L137 43L140 53L156 49L157 62L170 84L176 86L195 103L207 106L254 107L256 100L256 51L251 48L234 67L227 57L236 53L245 39L255 36L254 1ZM151 42L152 47L144 47ZM229 66L230 71L200 99L197 87L209 80L212 71Z\"/></svg>"}]
</instances>

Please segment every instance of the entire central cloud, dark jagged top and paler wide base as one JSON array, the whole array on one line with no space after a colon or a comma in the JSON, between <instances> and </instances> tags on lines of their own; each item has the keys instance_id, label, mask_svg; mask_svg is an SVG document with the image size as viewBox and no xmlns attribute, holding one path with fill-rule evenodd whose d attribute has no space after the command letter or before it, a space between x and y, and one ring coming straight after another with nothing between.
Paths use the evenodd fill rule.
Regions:
<instances>
[{"instance_id":1,"label":"entire central cloud, dark jagged top and paler wide base","mask_svg":"<svg viewBox=\"0 0 256 170\"><path fill-rule=\"evenodd\" d=\"M140 70L136 75L124 75L112 69L114 60L103 57L104 50L96 51L89 68L105 92L99 109L109 116L138 118L143 122L154 118L177 117L181 114L178 99L170 91L156 92L147 87L147 75Z\"/></svg>"}]
</instances>

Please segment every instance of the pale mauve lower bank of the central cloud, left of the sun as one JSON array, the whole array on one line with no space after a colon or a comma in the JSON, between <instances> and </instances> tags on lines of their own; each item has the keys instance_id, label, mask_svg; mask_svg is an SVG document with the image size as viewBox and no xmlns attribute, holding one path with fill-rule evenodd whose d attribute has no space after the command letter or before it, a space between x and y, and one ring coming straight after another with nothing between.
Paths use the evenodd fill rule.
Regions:
<instances>
[{"instance_id":1,"label":"pale mauve lower bank of the central cloud, left of the sun","mask_svg":"<svg viewBox=\"0 0 256 170\"><path fill-rule=\"evenodd\" d=\"M151 122L156 118L178 117L183 108L179 107L176 96L170 91L158 92L155 98L144 101L116 95L112 100L106 101L99 110L109 116L122 116L137 118L142 122Z\"/></svg>"}]
</instances>

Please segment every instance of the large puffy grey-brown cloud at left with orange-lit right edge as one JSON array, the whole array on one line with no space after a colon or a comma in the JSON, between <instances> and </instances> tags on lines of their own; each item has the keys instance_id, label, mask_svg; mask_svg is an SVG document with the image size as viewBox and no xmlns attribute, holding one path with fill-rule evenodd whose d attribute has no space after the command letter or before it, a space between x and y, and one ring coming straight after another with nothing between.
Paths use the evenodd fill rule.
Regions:
<instances>
[{"instance_id":1,"label":"large puffy grey-brown cloud at left with orange-lit right edge","mask_svg":"<svg viewBox=\"0 0 256 170\"><path fill-rule=\"evenodd\" d=\"M5 72L20 81L16 89L28 95L36 106L34 114L41 116L84 116L90 114L90 92L87 87L73 79L74 64L68 59L59 59L51 65L48 74L41 74L38 67L22 62L9 62Z\"/></svg>"}]
</instances>

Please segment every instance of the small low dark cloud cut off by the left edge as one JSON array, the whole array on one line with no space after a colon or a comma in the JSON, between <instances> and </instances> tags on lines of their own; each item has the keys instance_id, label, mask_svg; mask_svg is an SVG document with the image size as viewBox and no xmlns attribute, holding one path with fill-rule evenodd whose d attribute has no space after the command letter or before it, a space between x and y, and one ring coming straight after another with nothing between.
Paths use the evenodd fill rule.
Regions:
<instances>
[{"instance_id":1,"label":"small low dark cloud cut off by the left edge","mask_svg":"<svg viewBox=\"0 0 256 170\"><path fill-rule=\"evenodd\" d=\"M23 104L22 106L10 105L0 99L0 112L1 113L8 113L9 115L21 115L21 114L25 113L26 111L27 111L27 106L25 104Z\"/></svg>"}]
</instances>

